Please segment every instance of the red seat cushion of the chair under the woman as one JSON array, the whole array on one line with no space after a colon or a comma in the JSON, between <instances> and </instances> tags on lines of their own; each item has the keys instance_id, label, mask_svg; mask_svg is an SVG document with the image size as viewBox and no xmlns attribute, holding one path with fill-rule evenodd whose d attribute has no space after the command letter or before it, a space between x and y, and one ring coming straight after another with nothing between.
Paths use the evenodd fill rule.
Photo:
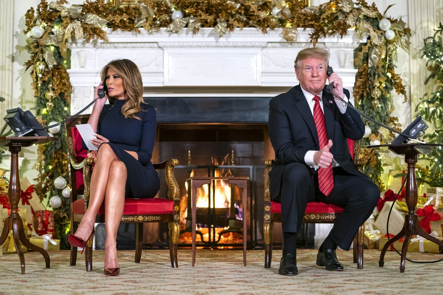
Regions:
<instances>
[{"instance_id":1,"label":"red seat cushion of the chair under the woman","mask_svg":"<svg viewBox=\"0 0 443 295\"><path fill-rule=\"evenodd\" d=\"M72 203L74 214L84 214L84 199L79 199ZM105 203L103 203L97 214L105 213ZM164 198L153 199L125 199L123 208L124 215L131 214L173 214L174 201Z\"/></svg>"}]
</instances>

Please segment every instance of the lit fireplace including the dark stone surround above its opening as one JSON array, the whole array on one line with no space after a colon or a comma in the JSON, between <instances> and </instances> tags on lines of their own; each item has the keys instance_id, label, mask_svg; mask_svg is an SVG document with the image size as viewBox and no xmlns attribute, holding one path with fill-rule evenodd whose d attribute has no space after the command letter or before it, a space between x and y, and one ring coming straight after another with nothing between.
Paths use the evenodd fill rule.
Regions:
<instances>
[{"instance_id":1,"label":"lit fireplace including the dark stone surround above its opening","mask_svg":"<svg viewBox=\"0 0 443 295\"><path fill-rule=\"evenodd\" d=\"M176 158L180 162L175 168L182 197L179 246L191 245L191 208L186 181L191 176L250 178L247 216L242 214L240 190L235 186L217 183L211 189L203 186L199 190L197 246L225 248L243 245L243 222L247 223L248 247L254 248L262 242L264 159L272 157L273 153L269 150L267 135L269 99L148 98L157 110L154 155L158 159L153 160Z\"/></svg>"}]
</instances>

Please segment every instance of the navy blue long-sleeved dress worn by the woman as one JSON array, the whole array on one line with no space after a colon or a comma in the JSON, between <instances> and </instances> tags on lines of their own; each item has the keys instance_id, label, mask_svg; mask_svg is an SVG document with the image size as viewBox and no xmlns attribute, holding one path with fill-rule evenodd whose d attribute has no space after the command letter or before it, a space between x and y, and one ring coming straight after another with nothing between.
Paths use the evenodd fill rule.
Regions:
<instances>
[{"instance_id":1,"label":"navy blue long-sleeved dress worn by the woman","mask_svg":"<svg viewBox=\"0 0 443 295\"><path fill-rule=\"evenodd\" d=\"M126 165L126 198L154 198L160 179L151 163L155 142L157 116L154 106L142 103L137 117L125 118L121 108L126 100L107 104L98 119L97 133L105 136L117 158ZM137 152L139 160L126 151Z\"/></svg>"}]
</instances>

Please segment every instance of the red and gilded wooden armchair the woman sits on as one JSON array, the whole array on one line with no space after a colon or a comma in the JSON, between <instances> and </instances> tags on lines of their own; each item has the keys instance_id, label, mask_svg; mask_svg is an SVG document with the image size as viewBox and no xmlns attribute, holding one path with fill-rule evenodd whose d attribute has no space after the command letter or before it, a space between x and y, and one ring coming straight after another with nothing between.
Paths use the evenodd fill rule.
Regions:
<instances>
[{"instance_id":1,"label":"red and gilded wooden armchair the woman sits on","mask_svg":"<svg viewBox=\"0 0 443 295\"><path fill-rule=\"evenodd\" d=\"M82 148L81 137L75 128L76 124L85 124L89 115L82 115L66 123L66 141L70 160L71 193L71 233L74 233L88 208L89 185L95 151ZM178 267L177 244L180 234L180 187L174 175L174 167L179 164L177 159L169 159L161 163L153 163L155 169L165 171L167 197L153 199L125 199L122 222L135 223L135 263L139 263L142 255L143 223L168 223L169 254L171 266ZM81 195L84 197L82 198ZM97 212L96 222L105 220L105 208L102 205ZM71 247L70 265L76 265L77 247ZM86 270L92 271L92 239L85 247Z\"/></svg>"}]
</instances>

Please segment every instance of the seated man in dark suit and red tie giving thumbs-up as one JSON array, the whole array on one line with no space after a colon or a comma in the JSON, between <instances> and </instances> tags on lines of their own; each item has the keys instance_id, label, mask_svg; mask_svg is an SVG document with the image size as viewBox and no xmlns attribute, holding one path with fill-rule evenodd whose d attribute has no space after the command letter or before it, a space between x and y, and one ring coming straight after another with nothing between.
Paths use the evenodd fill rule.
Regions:
<instances>
[{"instance_id":1,"label":"seated man in dark suit and red tie giving thumbs-up","mask_svg":"<svg viewBox=\"0 0 443 295\"><path fill-rule=\"evenodd\" d=\"M359 140L364 124L355 110L332 95L345 100L350 96L336 73L327 76L328 60L325 49L301 50L294 65L300 84L269 102L269 137L276 152L270 193L282 204L281 275L298 274L297 232L306 203L316 200L345 208L317 254L318 266L339 271L343 265L336 247L349 250L380 197L378 187L357 169L349 153L347 138ZM326 91L327 79L333 83L332 94Z\"/></svg>"}]
</instances>

